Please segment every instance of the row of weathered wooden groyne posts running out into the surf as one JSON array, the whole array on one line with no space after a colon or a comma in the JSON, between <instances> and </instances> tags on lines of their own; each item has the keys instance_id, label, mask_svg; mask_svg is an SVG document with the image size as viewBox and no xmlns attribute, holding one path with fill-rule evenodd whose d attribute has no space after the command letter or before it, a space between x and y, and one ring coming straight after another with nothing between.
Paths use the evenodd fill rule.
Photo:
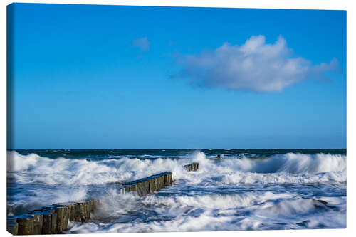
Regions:
<instances>
[{"instance_id":1,"label":"row of weathered wooden groyne posts running out into the surf","mask_svg":"<svg viewBox=\"0 0 356 237\"><path fill-rule=\"evenodd\" d=\"M199 163L184 165L187 171L197 171ZM137 196L153 194L166 186L172 185L172 172L162 172L122 185L122 193L134 192ZM72 201L68 203L43 206L30 214L8 216L7 231L13 235L41 235L63 233L68 228L68 221L88 222L90 214L98 209L100 199Z\"/></svg>"}]
</instances>

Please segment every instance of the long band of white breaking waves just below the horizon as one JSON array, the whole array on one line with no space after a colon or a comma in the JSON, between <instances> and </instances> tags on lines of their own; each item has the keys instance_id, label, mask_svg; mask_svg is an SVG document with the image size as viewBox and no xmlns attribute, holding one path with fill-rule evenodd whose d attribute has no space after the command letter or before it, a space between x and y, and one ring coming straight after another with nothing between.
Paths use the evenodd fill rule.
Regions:
<instances>
[{"instance_id":1,"label":"long band of white breaking waves just below the horizon","mask_svg":"<svg viewBox=\"0 0 356 237\"><path fill-rule=\"evenodd\" d=\"M8 152L8 177L18 183L63 184L67 186L106 184L140 179L172 171L174 179L199 182L221 177L233 183L303 183L346 181L346 156L339 154L277 154L267 159L207 159L196 152L187 159L49 159L37 154ZM200 162L199 172L186 172L182 165ZM298 175L303 174L303 175ZM215 181L219 179L214 179Z\"/></svg>"}]
</instances>

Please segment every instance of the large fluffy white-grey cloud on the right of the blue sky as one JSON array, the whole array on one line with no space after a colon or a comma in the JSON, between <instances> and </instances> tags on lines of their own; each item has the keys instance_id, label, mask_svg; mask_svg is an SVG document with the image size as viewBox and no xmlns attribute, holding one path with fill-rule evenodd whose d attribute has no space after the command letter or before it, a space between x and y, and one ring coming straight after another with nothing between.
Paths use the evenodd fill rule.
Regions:
<instances>
[{"instance_id":1,"label":"large fluffy white-grey cloud on the right of the blue sky","mask_svg":"<svg viewBox=\"0 0 356 237\"><path fill-rule=\"evenodd\" d=\"M266 43L265 36L251 36L241 46L224 43L212 52L179 57L182 71L177 76L211 88L272 92L301 80L323 79L323 73L338 67L336 58L312 65L291 53L282 36L273 44Z\"/></svg>"}]
</instances>

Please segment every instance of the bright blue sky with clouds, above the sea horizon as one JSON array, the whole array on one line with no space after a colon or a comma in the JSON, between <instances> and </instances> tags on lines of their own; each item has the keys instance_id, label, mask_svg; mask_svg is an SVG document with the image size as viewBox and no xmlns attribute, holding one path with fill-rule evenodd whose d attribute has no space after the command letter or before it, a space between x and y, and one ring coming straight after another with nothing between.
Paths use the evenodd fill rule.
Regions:
<instances>
[{"instance_id":1,"label":"bright blue sky with clouds, above the sea horizon","mask_svg":"<svg viewBox=\"0 0 356 237\"><path fill-rule=\"evenodd\" d=\"M346 147L346 11L8 12L9 149Z\"/></svg>"}]
</instances>

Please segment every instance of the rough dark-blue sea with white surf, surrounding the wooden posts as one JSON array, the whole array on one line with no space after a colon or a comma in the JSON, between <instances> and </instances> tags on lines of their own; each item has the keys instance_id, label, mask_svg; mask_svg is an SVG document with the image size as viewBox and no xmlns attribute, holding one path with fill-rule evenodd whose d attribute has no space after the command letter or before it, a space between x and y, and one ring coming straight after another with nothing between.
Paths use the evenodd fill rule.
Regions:
<instances>
[{"instance_id":1,"label":"rough dark-blue sea with white surf, surrounding the wooden posts","mask_svg":"<svg viewBox=\"0 0 356 237\"><path fill-rule=\"evenodd\" d=\"M221 154L221 159L216 159ZM185 164L199 162L187 172ZM120 185L159 172L155 194ZM346 149L58 149L7 152L7 214L100 199L65 233L346 227Z\"/></svg>"}]
</instances>

